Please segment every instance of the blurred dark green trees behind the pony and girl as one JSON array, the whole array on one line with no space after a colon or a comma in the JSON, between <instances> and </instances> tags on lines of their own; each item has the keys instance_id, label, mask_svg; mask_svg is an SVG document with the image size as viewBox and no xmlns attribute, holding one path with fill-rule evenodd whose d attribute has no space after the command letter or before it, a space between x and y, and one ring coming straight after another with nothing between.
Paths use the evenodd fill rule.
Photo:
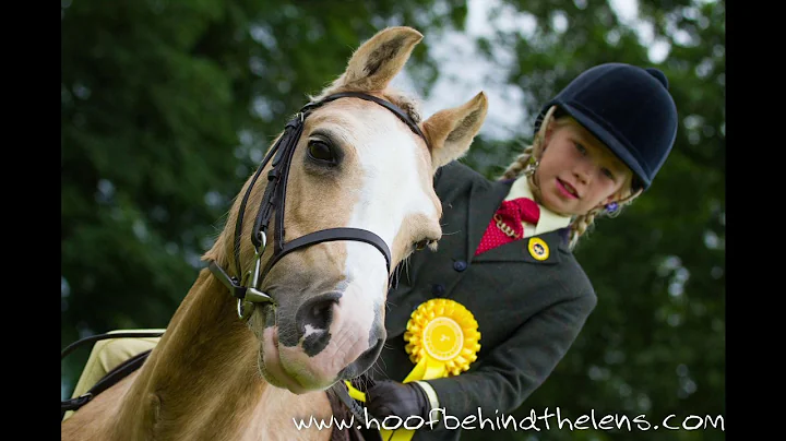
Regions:
<instances>
[{"instance_id":1,"label":"blurred dark green trees behind the pony and girl","mask_svg":"<svg viewBox=\"0 0 786 441\"><path fill-rule=\"evenodd\" d=\"M165 327L286 119L362 40L405 24L425 39L397 85L422 98L426 116L489 94L488 122L463 160L491 178L529 142L540 105L584 69L666 72L681 118L675 151L656 184L576 250L598 307L516 416L558 406L572 419L594 410L655 425L724 414L724 2L62 0L61 14L63 347ZM62 363L63 396L87 354ZM725 438L712 425L590 427L493 438Z\"/></svg>"}]
</instances>

